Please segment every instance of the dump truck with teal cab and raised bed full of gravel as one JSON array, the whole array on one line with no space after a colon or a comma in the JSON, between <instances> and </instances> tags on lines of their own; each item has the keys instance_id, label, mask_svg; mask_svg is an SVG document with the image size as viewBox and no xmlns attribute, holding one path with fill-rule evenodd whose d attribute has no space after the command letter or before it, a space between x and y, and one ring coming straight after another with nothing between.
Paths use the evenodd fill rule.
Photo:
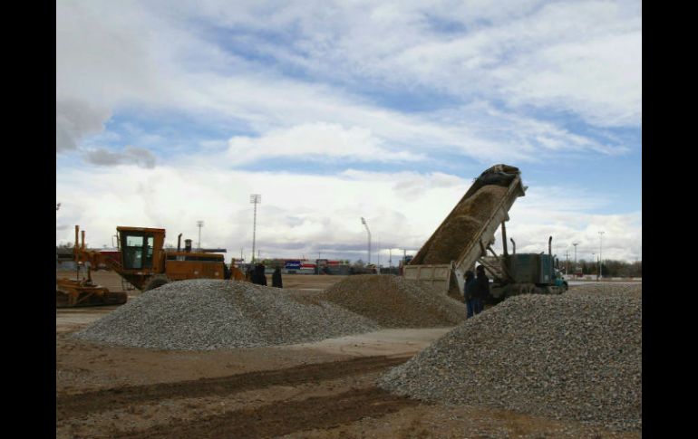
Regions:
<instances>
[{"instance_id":1,"label":"dump truck with teal cab and raised bed full of gravel","mask_svg":"<svg viewBox=\"0 0 698 439\"><path fill-rule=\"evenodd\" d=\"M454 299L462 300L466 271L475 271L476 262L485 266L493 283L490 301L522 293L560 293L554 258L542 253L514 253L507 248L509 209L519 196L525 196L518 167L499 164L475 179L466 194L422 245L412 261L404 265L407 280L435 286ZM501 226L503 254L492 249ZM488 261L488 252L494 261Z\"/></svg>"}]
</instances>

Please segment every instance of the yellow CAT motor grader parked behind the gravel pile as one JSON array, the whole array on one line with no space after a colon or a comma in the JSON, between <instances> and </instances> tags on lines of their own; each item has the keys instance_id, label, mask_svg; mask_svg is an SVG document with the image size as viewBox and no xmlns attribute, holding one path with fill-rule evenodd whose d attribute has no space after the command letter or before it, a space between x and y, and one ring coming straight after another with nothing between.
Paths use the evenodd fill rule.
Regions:
<instances>
[{"instance_id":1,"label":"yellow CAT motor grader parked behind the gravel pile","mask_svg":"<svg viewBox=\"0 0 698 439\"><path fill-rule=\"evenodd\" d=\"M194 252L190 239L185 240L185 247L182 249L181 234L178 237L177 250L165 249L165 229L117 226L118 260L104 253L86 249L85 232L82 231L82 243L78 243L79 233L80 226L76 225L73 254L75 262L87 266L88 277L82 281L56 280L56 306L112 304L116 297L122 297L122 302L125 302L125 293L122 296L110 293L104 287L92 283L91 267L101 265L116 272L124 281L141 291L150 291L165 283L185 279L229 278L230 271L226 267L223 255L209 253L225 253L226 249ZM88 295L92 297L91 301L86 300Z\"/></svg>"}]
</instances>

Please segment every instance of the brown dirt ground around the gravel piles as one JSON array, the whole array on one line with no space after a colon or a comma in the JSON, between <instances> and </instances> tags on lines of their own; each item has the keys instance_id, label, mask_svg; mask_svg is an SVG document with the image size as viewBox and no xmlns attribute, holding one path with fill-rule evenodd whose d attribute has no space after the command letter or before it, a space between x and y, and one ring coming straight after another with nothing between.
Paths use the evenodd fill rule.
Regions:
<instances>
[{"instance_id":1,"label":"brown dirt ground around the gravel piles","mask_svg":"<svg viewBox=\"0 0 698 439\"><path fill-rule=\"evenodd\" d=\"M93 273L93 279L121 291L112 272ZM284 287L322 291L342 279L286 275ZM377 377L450 328L193 352L71 339L115 309L56 310L58 438L641 437L484 406L428 404L375 386Z\"/></svg>"}]
</instances>

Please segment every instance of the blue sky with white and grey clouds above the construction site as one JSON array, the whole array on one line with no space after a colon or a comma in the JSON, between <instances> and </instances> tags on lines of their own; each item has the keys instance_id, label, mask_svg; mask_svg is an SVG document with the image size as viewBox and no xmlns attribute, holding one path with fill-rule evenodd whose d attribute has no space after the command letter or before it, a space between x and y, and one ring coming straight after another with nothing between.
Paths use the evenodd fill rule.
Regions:
<instances>
[{"instance_id":1,"label":"blue sky with white and grey clouds above the construction site","mask_svg":"<svg viewBox=\"0 0 698 439\"><path fill-rule=\"evenodd\" d=\"M259 257L394 265L496 164L518 253L642 260L640 1L56 2L56 244L249 261L259 194Z\"/></svg>"}]
</instances>

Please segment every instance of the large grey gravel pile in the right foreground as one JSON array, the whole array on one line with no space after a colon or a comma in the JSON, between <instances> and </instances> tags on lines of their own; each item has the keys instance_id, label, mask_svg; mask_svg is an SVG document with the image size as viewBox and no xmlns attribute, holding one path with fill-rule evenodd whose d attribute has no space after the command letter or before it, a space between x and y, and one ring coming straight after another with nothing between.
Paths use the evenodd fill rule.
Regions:
<instances>
[{"instance_id":1,"label":"large grey gravel pile in the right foreground","mask_svg":"<svg viewBox=\"0 0 698 439\"><path fill-rule=\"evenodd\" d=\"M640 429L640 294L637 287L603 285L511 297L394 367L378 384L446 404Z\"/></svg>"}]
</instances>

